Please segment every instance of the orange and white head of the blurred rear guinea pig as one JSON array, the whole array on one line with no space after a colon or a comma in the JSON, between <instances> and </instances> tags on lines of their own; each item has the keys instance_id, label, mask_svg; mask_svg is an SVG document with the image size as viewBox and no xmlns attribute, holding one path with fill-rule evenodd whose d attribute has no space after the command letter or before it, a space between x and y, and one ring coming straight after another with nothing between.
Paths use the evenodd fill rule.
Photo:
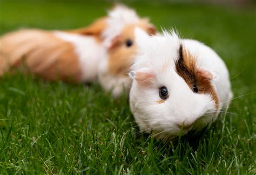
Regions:
<instances>
[{"instance_id":1,"label":"orange and white head of the blurred rear guinea pig","mask_svg":"<svg viewBox=\"0 0 256 175\"><path fill-rule=\"evenodd\" d=\"M109 12L106 24L103 45L108 58L100 65L99 79L105 89L113 88L113 95L119 96L124 87L129 92L131 86L127 73L138 51L134 30L139 27L150 36L156 34L156 29L149 19L140 18L134 10L123 5L117 5Z\"/></svg>"}]
</instances>

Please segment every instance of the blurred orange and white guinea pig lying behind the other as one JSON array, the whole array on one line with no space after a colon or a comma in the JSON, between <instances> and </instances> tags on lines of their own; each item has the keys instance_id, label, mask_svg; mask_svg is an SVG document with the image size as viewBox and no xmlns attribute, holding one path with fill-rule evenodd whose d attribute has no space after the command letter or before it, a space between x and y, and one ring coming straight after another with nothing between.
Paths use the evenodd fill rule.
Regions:
<instances>
[{"instance_id":1,"label":"blurred orange and white guinea pig lying behind the other","mask_svg":"<svg viewBox=\"0 0 256 175\"><path fill-rule=\"evenodd\" d=\"M134 29L149 35L155 27L147 18L124 5L116 5L106 17L91 25L67 31L19 30L0 38L0 75L25 67L46 80L99 81L105 90L119 96L129 93L127 73L137 53Z\"/></svg>"}]
</instances>

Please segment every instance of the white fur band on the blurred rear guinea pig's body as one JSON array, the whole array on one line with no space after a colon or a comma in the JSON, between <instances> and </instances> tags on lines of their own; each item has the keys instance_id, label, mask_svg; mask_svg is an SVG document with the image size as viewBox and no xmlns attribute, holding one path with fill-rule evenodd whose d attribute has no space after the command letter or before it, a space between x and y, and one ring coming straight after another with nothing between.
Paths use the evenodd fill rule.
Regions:
<instances>
[{"instance_id":1,"label":"white fur band on the blurred rear guinea pig's body","mask_svg":"<svg viewBox=\"0 0 256 175\"><path fill-rule=\"evenodd\" d=\"M100 61L107 57L106 49L102 44L97 43L94 37L79 34L56 31L55 36L69 41L75 47L82 68L82 80L95 81L98 74L98 65Z\"/></svg>"}]
</instances>

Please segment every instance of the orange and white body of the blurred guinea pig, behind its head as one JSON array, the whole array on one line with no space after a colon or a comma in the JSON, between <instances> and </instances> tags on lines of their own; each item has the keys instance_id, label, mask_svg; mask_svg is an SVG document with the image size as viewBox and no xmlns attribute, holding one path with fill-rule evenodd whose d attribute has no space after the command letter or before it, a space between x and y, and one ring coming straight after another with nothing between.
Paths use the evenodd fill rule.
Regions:
<instances>
[{"instance_id":1,"label":"orange and white body of the blurred guinea pig, behind its head","mask_svg":"<svg viewBox=\"0 0 256 175\"><path fill-rule=\"evenodd\" d=\"M93 36L38 29L18 30L0 38L0 75L23 67L46 80L97 80L105 50Z\"/></svg>"}]
</instances>

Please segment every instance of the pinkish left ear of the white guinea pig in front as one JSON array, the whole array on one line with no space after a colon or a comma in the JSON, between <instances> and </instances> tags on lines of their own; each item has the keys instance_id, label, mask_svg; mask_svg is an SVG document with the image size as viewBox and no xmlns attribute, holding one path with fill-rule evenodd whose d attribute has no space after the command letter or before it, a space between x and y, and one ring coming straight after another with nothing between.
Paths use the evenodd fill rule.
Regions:
<instances>
[{"instance_id":1,"label":"pinkish left ear of the white guinea pig in front","mask_svg":"<svg viewBox=\"0 0 256 175\"><path fill-rule=\"evenodd\" d=\"M150 86L153 80L156 79L154 71L147 67L141 68L138 71L131 71L129 76L144 86Z\"/></svg>"}]
</instances>

